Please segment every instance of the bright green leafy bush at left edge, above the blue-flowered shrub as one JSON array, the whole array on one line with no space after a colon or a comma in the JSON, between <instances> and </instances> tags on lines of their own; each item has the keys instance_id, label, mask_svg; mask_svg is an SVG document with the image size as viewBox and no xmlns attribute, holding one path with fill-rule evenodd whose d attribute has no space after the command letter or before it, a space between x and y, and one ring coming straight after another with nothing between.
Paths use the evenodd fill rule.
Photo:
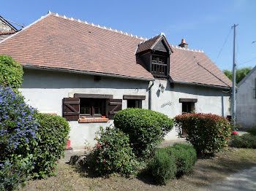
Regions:
<instances>
[{"instance_id":1,"label":"bright green leafy bush at left edge, above the blue-flowered shrub","mask_svg":"<svg viewBox=\"0 0 256 191\"><path fill-rule=\"evenodd\" d=\"M8 55L0 55L0 85L18 89L23 81L23 69Z\"/></svg>"}]
</instances>

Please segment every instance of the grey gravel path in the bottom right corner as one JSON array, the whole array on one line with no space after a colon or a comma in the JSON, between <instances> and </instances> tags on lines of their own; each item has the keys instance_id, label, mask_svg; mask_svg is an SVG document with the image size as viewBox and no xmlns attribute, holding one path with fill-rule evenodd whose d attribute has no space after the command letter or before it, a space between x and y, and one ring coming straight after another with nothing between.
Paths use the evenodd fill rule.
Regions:
<instances>
[{"instance_id":1,"label":"grey gravel path in the bottom right corner","mask_svg":"<svg viewBox=\"0 0 256 191\"><path fill-rule=\"evenodd\" d=\"M256 167L239 171L236 174L228 176L222 182L211 184L207 190L243 190L243 191L255 191L256 190Z\"/></svg>"}]
</instances>

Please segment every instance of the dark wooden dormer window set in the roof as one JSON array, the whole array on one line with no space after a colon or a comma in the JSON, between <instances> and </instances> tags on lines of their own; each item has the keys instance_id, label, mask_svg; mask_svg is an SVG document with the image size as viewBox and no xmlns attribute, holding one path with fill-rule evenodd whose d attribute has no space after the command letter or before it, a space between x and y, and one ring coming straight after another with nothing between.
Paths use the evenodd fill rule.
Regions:
<instances>
[{"instance_id":1,"label":"dark wooden dormer window set in the roof","mask_svg":"<svg viewBox=\"0 0 256 191\"><path fill-rule=\"evenodd\" d=\"M165 56L152 56L151 73L156 77L167 77L167 58Z\"/></svg>"}]
</instances>

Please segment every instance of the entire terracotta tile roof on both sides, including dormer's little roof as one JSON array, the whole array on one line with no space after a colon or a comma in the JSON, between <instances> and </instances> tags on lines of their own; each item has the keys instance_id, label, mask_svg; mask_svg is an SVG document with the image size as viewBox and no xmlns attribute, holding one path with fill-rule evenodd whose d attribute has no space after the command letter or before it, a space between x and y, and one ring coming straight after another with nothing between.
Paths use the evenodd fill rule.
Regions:
<instances>
[{"instance_id":1,"label":"entire terracotta tile roof on both sides, including dormer's little roof","mask_svg":"<svg viewBox=\"0 0 256 191\"><path fill-rule=\"evenodd\" d=\"M4 39L0 44L0 55L11 55L23 66L153 79L143 66L136 63L135 52L150 49L160 37L145 39L50 13ZM174 81L232 86L205 53L170 47L173 52L170 55L170 77Z\"/></svg>"}]
</instances>

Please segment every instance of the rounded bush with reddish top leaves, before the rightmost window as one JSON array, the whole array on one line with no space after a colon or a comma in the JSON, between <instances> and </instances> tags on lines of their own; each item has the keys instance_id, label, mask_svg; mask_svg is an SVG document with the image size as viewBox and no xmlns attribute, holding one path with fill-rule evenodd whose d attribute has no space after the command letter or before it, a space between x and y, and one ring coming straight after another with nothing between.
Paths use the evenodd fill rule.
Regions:
<instances>
[{"instance_id":1,"label":"rounded bush with reddish top leaves, before the rightmost window","mask_svg":"<svg viewBox=\"0 0 256 191\"><path fill-rule=\"evenodd\" d=\"M178 135L182 129L197 153L219 152L227 146L231 137L231 125L227 119L216 114L184 114L174 118Z\"/></svg>"}]
</instances>

